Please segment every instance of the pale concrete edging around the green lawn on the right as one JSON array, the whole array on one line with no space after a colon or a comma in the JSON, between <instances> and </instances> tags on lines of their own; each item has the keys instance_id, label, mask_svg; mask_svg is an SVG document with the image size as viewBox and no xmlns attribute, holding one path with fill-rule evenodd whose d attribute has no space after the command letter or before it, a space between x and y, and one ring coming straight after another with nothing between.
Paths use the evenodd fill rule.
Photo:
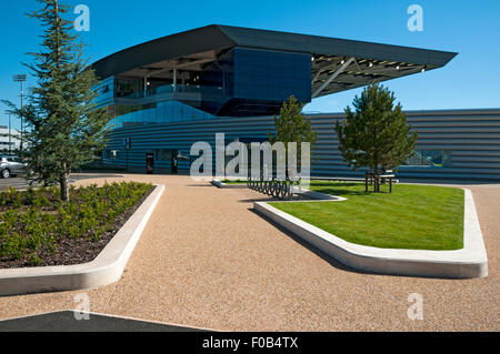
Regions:
<instances>
[{"instance_id":1,"label":"pale concrete edging around the green lawn on the right","mask_svg":"<svg viewBox=\"0 0 500 354\"><path fill-rule=\"evenodd\" d=\"M359 245L337 237L266 202L254 202L253 208L260 214L354 270L451 279L488 275L488 257L479 219L472 192L467 189L464 189L463 249L453 251L379 249Z\"/></svg>"}]
</instances>

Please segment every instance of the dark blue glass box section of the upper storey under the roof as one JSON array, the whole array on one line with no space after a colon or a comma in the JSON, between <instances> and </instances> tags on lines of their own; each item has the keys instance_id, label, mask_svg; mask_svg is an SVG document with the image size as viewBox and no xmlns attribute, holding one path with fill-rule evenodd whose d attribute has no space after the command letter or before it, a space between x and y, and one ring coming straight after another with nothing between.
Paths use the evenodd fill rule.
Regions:
<instances>
[{"instance_id":1,"label":"dark blue glass box section of the upper storey under the roof","mask_svg":"<svg viewBox=\"0 0 500 354\"><path fill-rule=\"evenodd\" d=\"M237 47L200 73L199 82L212 88L201 109L214 115L277 114L292 94L311 101L311 55Z\"/></svg>"}]
</instances>

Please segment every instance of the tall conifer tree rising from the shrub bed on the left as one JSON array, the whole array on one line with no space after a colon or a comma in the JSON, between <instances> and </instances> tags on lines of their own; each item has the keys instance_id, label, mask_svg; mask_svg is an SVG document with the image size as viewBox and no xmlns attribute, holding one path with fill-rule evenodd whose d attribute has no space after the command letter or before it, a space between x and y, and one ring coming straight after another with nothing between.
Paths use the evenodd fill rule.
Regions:
<instances>
[{"instance_id":1,"label":"tall conifer tree rising from the shrub bed on the left","mask_svg":"<svg viewBox=\"0 0 500 354\"><path fill-rule=\"evenodd\" d=\"M27 149L20 152L33 172L31 180L47 184L59 183L61 200L68 200L68 176L71 169L93 160L103 148L104 110L92 102L97 93L93 70L82 58L83 44L71 34L72 22L61 18L68 7L58 0L39 0L42 9L29 17L44 28L41 49L30 53L37 85L30 89L28 104L21 111L8 102L28 129L22 136Z\"/></svg>"}]
</instances>

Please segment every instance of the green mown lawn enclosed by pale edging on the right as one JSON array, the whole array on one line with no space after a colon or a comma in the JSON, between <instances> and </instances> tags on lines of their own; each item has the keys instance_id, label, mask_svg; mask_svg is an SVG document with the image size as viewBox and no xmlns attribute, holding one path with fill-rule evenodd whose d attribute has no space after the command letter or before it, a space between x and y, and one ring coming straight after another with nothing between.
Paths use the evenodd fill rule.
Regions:
<instances>
[{"instance_id":1,"label":"green mown lawn enclosed by pale edging on the right","mask_svg":"<svg viewBox=\"0 0 500 354\"><path fill-rule=\"evenodd\" d=\"M391 194L366 193L363 183L317 181L310 188L348 200L270 204L352 243L383 249L463 247L461 189L396 184Z\"/></svg>"}]
</instances>

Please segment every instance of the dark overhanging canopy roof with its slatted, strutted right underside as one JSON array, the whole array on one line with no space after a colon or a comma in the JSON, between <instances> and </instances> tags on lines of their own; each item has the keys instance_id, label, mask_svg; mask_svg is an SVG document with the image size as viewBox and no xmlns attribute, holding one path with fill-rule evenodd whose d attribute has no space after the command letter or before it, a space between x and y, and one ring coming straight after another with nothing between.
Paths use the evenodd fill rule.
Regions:
<instances>
[{"instance_id":1,"label":"dark overhanging canopy roof with its slatted, strutted right underside","mask_svg":"<svg viewBox=\"0 0 500 354\"><path fill-rule=\"evenodd\" d=\"M234 47L311 54L312 97L446 65L454 52L211 24L141 43L92 64L98 78L171 78L202 70Z\"/></svg>"}]
</instances>

